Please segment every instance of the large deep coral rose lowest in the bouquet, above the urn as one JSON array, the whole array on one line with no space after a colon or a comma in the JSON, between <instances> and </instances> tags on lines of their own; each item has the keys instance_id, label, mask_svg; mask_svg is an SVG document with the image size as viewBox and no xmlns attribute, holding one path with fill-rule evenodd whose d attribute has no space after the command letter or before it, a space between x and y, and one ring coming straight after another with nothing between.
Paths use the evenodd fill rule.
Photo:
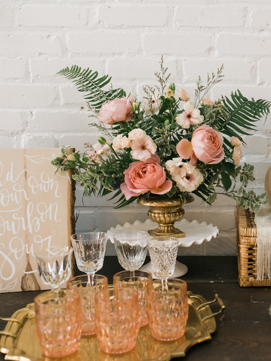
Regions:
<instances>
[{"instance_id":1,"label":"large deep coral rose lowest in the bouquet, above the urn","mask_svg":"<svg viewBox=\"0 0 271 361\"><path fill-rule=\"evenodd\" d=\"M148 191L165 194L172 187L172 181L166 179L165 170L160 165L160 158L157 155L151 156L146 161L130 163L124 175L124 183L121 183L120 189L126 200Z\"/></svg>"}]
</instances>

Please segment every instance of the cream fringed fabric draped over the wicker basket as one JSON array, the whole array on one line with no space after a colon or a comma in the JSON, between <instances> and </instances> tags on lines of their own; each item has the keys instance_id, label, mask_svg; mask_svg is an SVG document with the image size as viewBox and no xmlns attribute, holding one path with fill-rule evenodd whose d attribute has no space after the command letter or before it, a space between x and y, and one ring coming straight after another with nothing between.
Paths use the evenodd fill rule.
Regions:
<instances>
[{"instance_id":1,"label":"cream fringed fabric draped over the wicker basket","mask_svg":"<svg viewBox=\"0 0 271 361\"><path fill-rule=\"evenodd\" d=\"M257 279L263 280L264 276L271 279L271 207L262 204L259 211L255 212L257 226Z\"/></svg>"}]
</instances>

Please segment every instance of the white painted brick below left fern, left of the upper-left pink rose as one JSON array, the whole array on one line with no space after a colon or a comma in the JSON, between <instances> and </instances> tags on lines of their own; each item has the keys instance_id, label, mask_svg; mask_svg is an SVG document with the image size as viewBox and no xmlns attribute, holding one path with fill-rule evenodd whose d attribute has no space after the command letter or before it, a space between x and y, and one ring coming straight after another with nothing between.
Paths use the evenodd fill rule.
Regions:
<instances>
[{"instance_id":1,"label":"white painted brick below left fern, left of the upper-left pink rose","mask_svg":"<svg viewBox=\"0 0 271 361\"><path fill-rule=\"evenodd\" d=\"M78 112L34 112L29 120L29 129L57 130L57 131L86 131L88 127L87 114L85 111Z\"/></svg>"}]
</instances>

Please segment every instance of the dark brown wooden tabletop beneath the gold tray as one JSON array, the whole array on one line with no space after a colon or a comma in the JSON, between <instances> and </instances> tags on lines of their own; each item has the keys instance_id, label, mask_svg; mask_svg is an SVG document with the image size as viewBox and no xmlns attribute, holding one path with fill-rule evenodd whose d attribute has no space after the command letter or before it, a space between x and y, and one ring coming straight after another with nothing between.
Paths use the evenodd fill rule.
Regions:
<instances>
[{"instance_id":1,"label":"dark brown wooden tabletop beneath the gold tray","mask_svg":"<svg viewBox=\"0 0 271 361\"><path fill-rule=\"evenodd\" d=\"M215 316L217 330L212 339L190 348L185 360L271 360L271 288L240 287L237 257L234 256L184 256L177 259L188 266L188 273L182 279L188 283L189 291L207 301L214 299L215 293L218 293L226 306L222 314ZM112 283L113 274L121 270L117 258L107 256L99 274L107 276ZM38 293L1 293L0 315L12 316L17 309L33 302ZM211 309L215 312L218 305L211 305ZM4 327L5 322L0 321L0 330ZM4 355L1 354L0 361L3 360Z\"/></svg>"}]
</instances>

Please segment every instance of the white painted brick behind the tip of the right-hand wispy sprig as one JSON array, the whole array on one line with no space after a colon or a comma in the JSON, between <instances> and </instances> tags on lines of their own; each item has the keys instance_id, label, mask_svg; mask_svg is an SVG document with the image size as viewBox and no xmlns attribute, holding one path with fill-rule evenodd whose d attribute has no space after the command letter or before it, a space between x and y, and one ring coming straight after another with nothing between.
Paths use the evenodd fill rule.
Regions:
<instances>
[{"instance_id":1,"label":"white painted brick behind the tip of the right-hand wispy sprig","mask_svg":"<svg viewBox=\"0 0 271 361\"><path fill-rule=\"evenodd\" d=\"M229 59L189 59L184 62L185 81L198 80L200 75L203 82L207 79L207 73L211 75L212 71L216 74L218 68L224 65L222 81L218 86L223 86L225 81L250 82L251 73L253 73L253 64L245 60Z\"/></svg>"}]
</instances>

